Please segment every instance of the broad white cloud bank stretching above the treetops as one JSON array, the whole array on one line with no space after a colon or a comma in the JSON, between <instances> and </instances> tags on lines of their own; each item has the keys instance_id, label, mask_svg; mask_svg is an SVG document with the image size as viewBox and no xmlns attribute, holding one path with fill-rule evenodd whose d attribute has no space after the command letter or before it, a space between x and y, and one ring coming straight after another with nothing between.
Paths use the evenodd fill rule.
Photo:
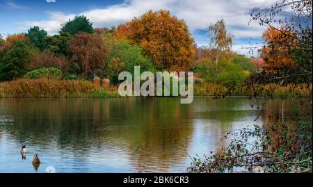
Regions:
<instances>
[{"instance_id":1,"label":"broad white cloud bank stretching above the treetops","mask_svg":"<svg viewBox=\"0 0 313 187\"><path fill-rule=\"evenodd\" d=\"M48 0L46 0L48 1ZM51 0L53 1L53 0ZM86 15L96 27L118 26L129 22L148 10L170 10L172 15L186 20L191 33L197 29L207 29L209 24L223 18L227 29L235 38L260 38L263 29L259 24L252 22L248 26L250 10L266 7L274 0L126 0L114 6L93 8L79 15ZM74 15L63 13L49 13L49 19L40 22L24 22L24 26L38 25L54 34L60 29L63 22L67 22ZM198 38L196 38L197 40ZM200 39L204 41L204 38Z\"/></svg>"}]
</instances>

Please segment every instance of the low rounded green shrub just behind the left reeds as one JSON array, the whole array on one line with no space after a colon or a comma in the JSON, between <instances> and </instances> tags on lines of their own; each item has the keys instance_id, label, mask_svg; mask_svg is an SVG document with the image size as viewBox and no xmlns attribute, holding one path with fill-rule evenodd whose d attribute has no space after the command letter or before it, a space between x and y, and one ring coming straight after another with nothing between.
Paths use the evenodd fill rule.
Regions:
<instances>
[{"instance_id":1,"label":"low rounded green shrub just behind the left reeds","mask_svg":"<svg viewBox=\"0 0 313 187\"><path fill-rule=\"evenodd\" d=\"M54 67L40 68L25 74L25 79L61 79L62 72Z\"/></svg>"}]
</instances>

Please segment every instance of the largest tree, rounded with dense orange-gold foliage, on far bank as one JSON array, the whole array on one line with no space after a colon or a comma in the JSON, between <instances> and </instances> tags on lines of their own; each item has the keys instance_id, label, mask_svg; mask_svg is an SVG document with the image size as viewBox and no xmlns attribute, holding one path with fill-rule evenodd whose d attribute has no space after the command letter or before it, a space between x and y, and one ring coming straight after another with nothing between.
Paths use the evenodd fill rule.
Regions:
<instances>
[{"instance_id":1,"label":"largest tree, rounded with dense orange-gold foliage, on far bank","mask_svg":"<svg viewBox=\"0 0 313 187\"><path fill-rule=\"evenodd\" d=\"M145 13L129 23L128 39L143 48L157 70L188 70L193 63L193 38L184 20L169 11ZM119 31L119 29L118 29ZM116 32L115 32L116 33Z\"/></svg>"}]
</instances>

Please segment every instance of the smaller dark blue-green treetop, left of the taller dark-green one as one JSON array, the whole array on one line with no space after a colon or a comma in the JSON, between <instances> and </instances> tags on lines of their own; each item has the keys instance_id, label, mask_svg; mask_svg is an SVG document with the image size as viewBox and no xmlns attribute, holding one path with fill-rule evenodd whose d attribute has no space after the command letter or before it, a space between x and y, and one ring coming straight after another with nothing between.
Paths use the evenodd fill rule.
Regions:
<instances>
[{"instance_id":1,"label":"smaller dark blue-green treetop, left of the taller dark-green one","mask_svg":"<svg viewBox=\"0 0 313 187\"><path fill-rule=\"evenodd\" d=\"M47 47L47 35L47 31L40 29L38 26L34 26L26 33L26 36L31 39L35 47L38 47L41 51Z\"/></svg>"}]
</instances>

